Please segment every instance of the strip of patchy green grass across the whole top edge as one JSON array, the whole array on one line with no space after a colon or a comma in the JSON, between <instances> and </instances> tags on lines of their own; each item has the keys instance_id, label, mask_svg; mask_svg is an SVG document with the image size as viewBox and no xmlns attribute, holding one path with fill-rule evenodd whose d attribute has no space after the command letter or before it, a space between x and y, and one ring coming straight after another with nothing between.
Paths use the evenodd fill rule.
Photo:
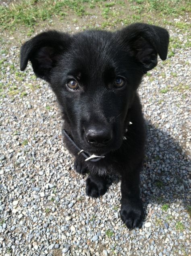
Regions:
<instances>
[{"instance_id":1,"label":"strip of patchy green grass across the whole top edge","mask_svg":"<svg viewBox=\"0 0 191 256\"><path fill-rule=\"evenodd\" d=\"M183 30L190 29L189 22L172 22L167 19L190 12L191 7L186 0L22 0L11 2L8 7L0 6L0 30L20 29L31 36L36 25L43 24L44 21L47 24L53 17L74 22L70 20L71 14L82 17L92 14L95 8L102 16L102 28L115 27L122 22L124 25L136 21L153 23L156 16L162 23L166 22Z\"/></svg>"}]
</instances>

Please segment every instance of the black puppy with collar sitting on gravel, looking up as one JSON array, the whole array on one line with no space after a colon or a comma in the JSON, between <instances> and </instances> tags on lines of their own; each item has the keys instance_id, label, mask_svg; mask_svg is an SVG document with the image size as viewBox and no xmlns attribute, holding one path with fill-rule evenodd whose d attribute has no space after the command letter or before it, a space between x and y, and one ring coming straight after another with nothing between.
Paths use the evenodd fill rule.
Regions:
<instances>
[{"instance_id":1,"label":"black puppy with collar sitting on gravel, looking up","mask_svg":"<svg viewBox=\"0 0 191 256\"><path fill-rule=\"evenodd\" d=\"M21 47L21 70L30 60L36 76L56 94L75 168L91 173L87 195L103 195L111 171L121 175L120 214L130 229L143 219L139 172L145 130L136 90L157 65L157 56L166 59L168 42L165 29L135 23L116 32L89 30L73 36L48 31Z\"/></svg>"}]
</instances>

